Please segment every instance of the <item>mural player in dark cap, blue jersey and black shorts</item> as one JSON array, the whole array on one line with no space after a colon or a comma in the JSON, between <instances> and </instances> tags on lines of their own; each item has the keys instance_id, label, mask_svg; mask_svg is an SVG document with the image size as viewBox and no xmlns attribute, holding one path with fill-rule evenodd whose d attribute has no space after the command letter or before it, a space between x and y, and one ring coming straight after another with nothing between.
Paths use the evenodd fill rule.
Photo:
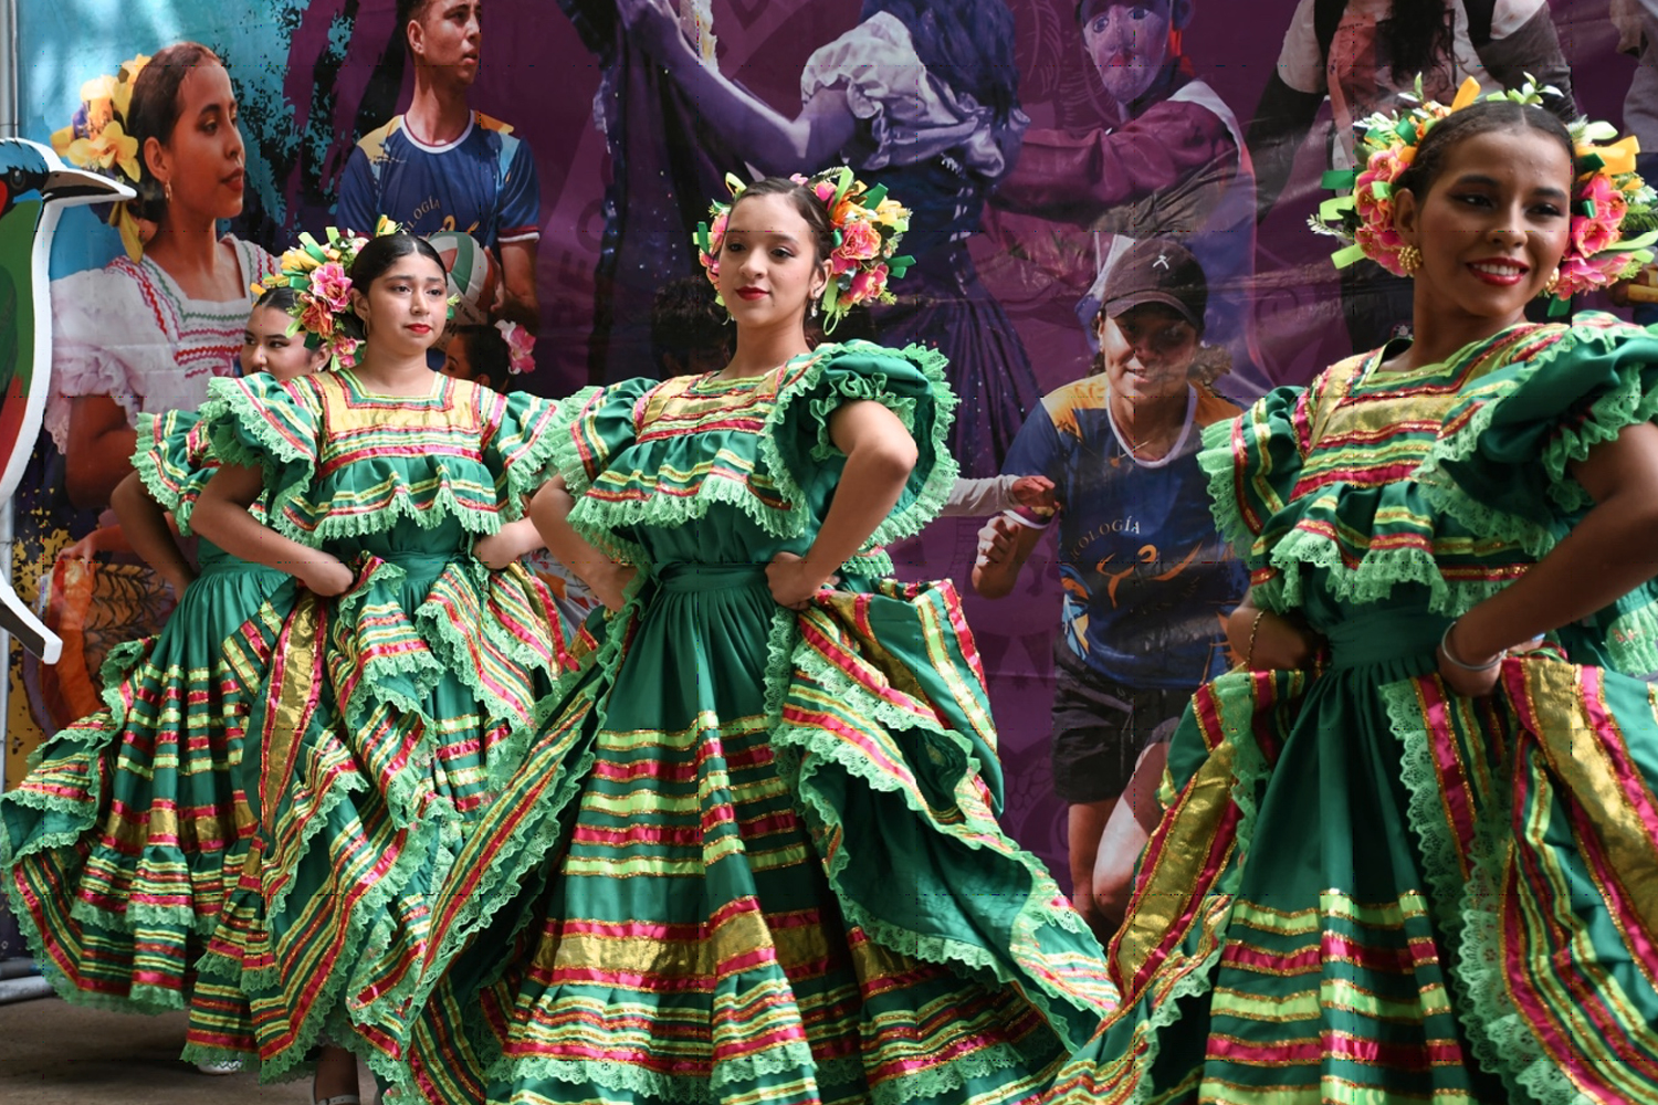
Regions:
<instances>
[{"instance_id":1,"label":"mural player in dark cap, blue jersey and black shorts","mask_svg":"<svg viewBox=\"0 0 1658 1105\"><path fill-rule=\"evenodd\" d=\"M1220 616L1247 583L1197 464L1202 429L1239 414L1194 383L1204 270L1177 242L1147 239L1108 277L1094 320L1104 371L1045 396L1003 466L1048 477L1058 515L998 515L980 530L973 567L973 590L1003 598L1056 533L1053 782L1069 805L1073 901L1101 936L1114 926L1094 885L1101 833L1141 757L1225 669Z\"/></svg>"}]
</instances>

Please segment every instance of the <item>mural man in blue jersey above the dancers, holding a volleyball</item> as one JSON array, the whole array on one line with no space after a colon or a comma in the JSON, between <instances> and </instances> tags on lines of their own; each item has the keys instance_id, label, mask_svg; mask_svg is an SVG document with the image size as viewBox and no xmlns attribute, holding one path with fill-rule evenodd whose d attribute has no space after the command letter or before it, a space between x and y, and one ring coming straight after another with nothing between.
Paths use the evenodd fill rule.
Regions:
<instances>
[{"instance_id":1,"label":"mural man in blue jersey above the dancers, holding a volleyball","mask_svg":"<svg viewBox=\"0 0 1658 1105\"><path fill-rule=\"evenodd\" d=\"M468 103L482 56L482 3L398 0L398 28L414 61L414 96L351 151L335 225L366 234L386 215L414 234L471 234L501 262L489 315L534 333L536 161L511 126Z\"/></svg>"}]
</instances>

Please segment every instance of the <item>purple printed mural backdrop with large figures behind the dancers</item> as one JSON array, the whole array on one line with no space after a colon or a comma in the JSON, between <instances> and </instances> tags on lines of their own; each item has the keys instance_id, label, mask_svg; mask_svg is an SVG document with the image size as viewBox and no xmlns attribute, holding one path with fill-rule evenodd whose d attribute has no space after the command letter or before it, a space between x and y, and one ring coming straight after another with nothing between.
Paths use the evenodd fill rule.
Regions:
<instances>
[{"instance_id":1,"label":"purple printed mural backdrop with large figures behind the dancers","mask_svg":"<svg viewBox=\"0 0 1658 1105\"><path fill-rule=\"evenodd\" d=\"M534 371L512 383L562 396L663 371L652 305L700 275L695 227L726 174L851 164L915 212L915 265L859 325L950 355L953 447L965 474L993 475L1040 398L1091 371L1083 320L1132 240L1174 239L1202 263L1205 341L1230 363L1215 386L1232 399L1386 338L1408 313L1399 288L1379 270L1338 273L1305 220L1346 156L1331 119L1391 103L1404 68L1441 93L1467 73L1532 73L1560 109L1620 119L1628 98L1631 124L1658 116L1636 0L429 5L463 23L482 8L449 73L478 116L446 141L401 114L416 76L393 0L22 0L23 136L121 171L158 118L184 131L167 141L171 179L141 187L129 217L73 212L53 242L58 393L18 502L15 572L66 648L55 668L10 658L8 777L43 732L96 706L104 653L172 605L108 512L133 421L237 371L242 288L342 214L448 234L474 321L537 335ZM229 88L134 99L138 68L177 43L221 56ZM681 50L703 66L675 65ZM802 108L844 116L851 138L756 139ZM242 288L201 287L204 240L234 253ZM1094 509L1101 532L1137 525L1132 504ZM895 553L902 573L950 575L968 595L1008 827L1063 878L1048 737L1074 595L1050 543L1011 596L973 596L978 525L942 520ZM1157 550L1146 560L1161 565Z\"/></svg>"}]
</instances>

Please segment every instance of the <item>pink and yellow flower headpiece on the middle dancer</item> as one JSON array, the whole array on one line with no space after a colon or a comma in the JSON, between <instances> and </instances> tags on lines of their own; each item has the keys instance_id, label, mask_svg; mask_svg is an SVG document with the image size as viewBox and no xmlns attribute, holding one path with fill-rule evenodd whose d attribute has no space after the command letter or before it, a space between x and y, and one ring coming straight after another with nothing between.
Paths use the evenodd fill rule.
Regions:
<instances>
[{"instance_id":1,"label":"pink and yellow flower headpiece on the middle dancer","mask_svg":"<svg viewBox=\"0 0 1658 1105\"><path fill-rule=\"evenodd\" d=\"M914 257L894 257L904 232L910 229L910 209L887 195L887 187L864 184L846 166L816 172L811 177L789 177L809 189L829 210L834 227L834 252L829 253L829 285L824 288L824 333L859 303L892 303L889 280L899 280L915 263ZM715 200L708 207L713 222L696 224L696 257L708 272L710 283L720 283L720 245L725 240L731 207L748 189L743 181L726 174L731 202ZM715 297L725 306L725 300Z\"/></svg>"}]
</instances>

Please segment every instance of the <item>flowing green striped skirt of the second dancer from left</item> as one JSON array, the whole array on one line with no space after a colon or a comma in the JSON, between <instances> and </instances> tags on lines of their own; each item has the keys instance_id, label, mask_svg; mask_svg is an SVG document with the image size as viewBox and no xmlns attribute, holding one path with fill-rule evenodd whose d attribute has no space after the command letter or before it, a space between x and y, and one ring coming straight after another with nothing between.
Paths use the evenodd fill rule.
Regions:
<instances>
[{"instance_id":1,"label":"flowing green striped skirt of the second dancer from left","mask_svg":"<svg viewBox=\"0 0 1658 1105\"><path fill-rule=\"evenodd\" d=\"M522 757L567 653L545 586L463 553L358 553L335 600L262 610L244 636L254 837L201 959L247 996L265 1080L320 1042L398 1072L403 1006L431 895Z\"/></svg>"}]
</instances>

